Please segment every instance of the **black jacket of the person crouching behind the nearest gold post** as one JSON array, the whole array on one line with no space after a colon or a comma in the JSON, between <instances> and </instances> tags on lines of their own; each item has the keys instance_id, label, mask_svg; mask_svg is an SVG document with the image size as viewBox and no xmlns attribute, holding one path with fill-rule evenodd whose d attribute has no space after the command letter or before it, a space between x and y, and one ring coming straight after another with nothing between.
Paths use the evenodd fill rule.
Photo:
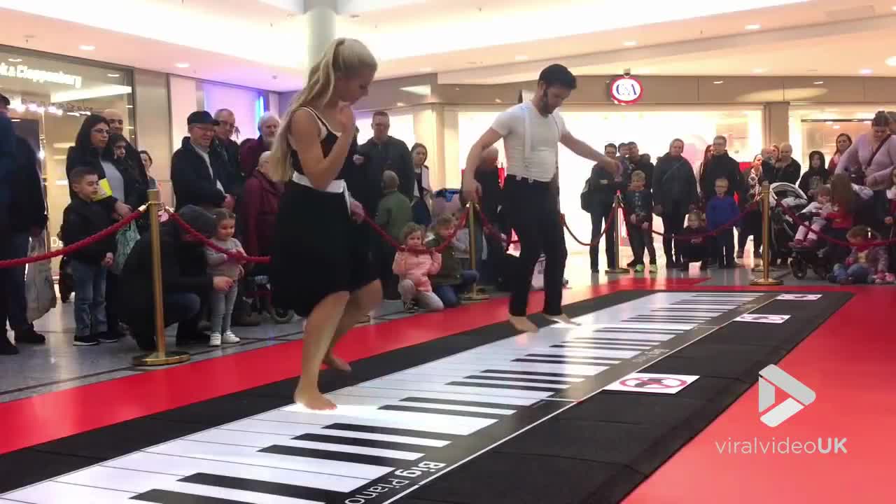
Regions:
<instances>
[{"instance_id":1,"label":"black jacket of the person crouching behind the nearest gold post","mask_svg":"<svg viewBox=\"0 0 896 504\"><path fill-rule=\"evenodd\" d=\"M211 292L211 275L202 244L182 239L175 222L159 226L161 239L162 294L191 292L205 297ZM143 235L134 244L122 269L122 285L127 285L131 299L126 303L125 316L131 321L145 321L152 317L152 251L150 235Z\"/></svg>"}]
</instances>

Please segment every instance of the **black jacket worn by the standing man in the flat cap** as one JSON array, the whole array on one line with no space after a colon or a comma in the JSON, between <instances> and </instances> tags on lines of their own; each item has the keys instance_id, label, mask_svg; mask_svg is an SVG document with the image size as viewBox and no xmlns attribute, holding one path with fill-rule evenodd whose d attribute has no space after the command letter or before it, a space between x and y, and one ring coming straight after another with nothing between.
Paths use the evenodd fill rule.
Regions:
<instances>
[{"instance_id":1,"label":"black jacket worn by the standing man in the flat cap","mask_svg":"<svg viewBox=\"0 0 896 504\"><path fill-rule=\"evenodd\" d=\"M175 210L180 210L187 204L203 208L220 208L224 204L224 199L229 194L227 161L216 149L209 149L209 161L211 171L214 172L215 179L220 182L224 191L221 191L215 179L211 178L209 165L202 159L202 155L196 152L190 143L190 137L185 136L180 149L171 156L171 185L174 186L177 203Z\"/></svg>"}]
</instances>

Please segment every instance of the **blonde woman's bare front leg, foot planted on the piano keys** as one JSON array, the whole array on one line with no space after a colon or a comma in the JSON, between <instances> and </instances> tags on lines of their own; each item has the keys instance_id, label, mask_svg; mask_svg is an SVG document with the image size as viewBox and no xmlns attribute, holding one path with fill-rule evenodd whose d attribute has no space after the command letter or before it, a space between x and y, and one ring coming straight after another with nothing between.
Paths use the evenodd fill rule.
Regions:
<instances>
[{"instance_id":1,"label":"blonde woman's bare front leg, foot planted on the piano keys","mask_svg":"<svg viewBox=\"0 0 896 504\"><path fill-rule=\"evenodd\" d=\"M321 394L317 378L321 372L323 356L330 348L333 334L349 303L349 292L335 292L314 307L305 323L305 338L302 348L302 376L298 380L293 395L297 404L310 410L332 410L336 408L331 400Z\"/></svg>"}]
</instances>

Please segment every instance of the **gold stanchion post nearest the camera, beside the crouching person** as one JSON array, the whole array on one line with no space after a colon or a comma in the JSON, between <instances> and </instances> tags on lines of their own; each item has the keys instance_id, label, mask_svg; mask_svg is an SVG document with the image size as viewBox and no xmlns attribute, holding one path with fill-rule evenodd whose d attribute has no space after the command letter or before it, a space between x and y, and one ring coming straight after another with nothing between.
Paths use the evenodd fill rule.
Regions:
<instances>
[{"instance_id":1,"label":"gold stanchion post nearest the camera, beside the crouching person","mask_svg":"<svg viewBox=\"0 0 896 504\"><path fill-rule=\"evenodd\" d=\"M159 189L151 189L150 202L147 204L146 214L150 220L150 240L152 250L152 304L156 326L156 351L134 357L134 366L164 366L177 364L190 360L187 352L165 351L165 313L162 308L162 254L161 239L159 238L159 211L165 205L161 201Z\"/></svg>"}]
</instances>

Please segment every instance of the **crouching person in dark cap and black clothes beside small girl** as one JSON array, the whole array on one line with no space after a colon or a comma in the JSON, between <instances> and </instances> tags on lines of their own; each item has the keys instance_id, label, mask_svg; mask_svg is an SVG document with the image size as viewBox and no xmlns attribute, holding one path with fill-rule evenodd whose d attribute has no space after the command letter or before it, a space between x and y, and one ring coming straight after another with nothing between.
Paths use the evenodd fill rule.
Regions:
<instances>
[{"instance_id":1,"label":"crouching person in dark cap and black clothes beside small girl","mask_svg":"<svg viewBox=\"0 0 896 504\"><path fill-rule=\"evenodd\" d=\"M186 205L178 212L191 228L211 238L215 218L202 208ZM209 343L210 335L199 331L202 305L212 289L225 292L233 286L226 276L211 276L204 245L182 230L177 222L159 224L162 263L162 299L165 326L177 324L177 344ZM121 274L132 299L125 303L124 318L131 334L144 351L155 350L155 310L152 298L152 253L150 234L137 241L127 256Z\"/></svg>"}]
</instances>

